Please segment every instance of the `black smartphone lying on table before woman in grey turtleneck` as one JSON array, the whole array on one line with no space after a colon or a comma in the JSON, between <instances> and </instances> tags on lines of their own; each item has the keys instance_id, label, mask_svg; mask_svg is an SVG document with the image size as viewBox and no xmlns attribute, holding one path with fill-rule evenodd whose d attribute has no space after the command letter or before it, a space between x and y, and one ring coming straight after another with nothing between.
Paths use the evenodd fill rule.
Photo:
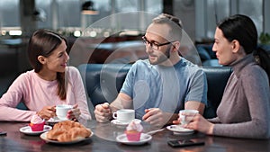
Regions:
<instances>
[{"instance_id":1,"label":"black smartphone lying on table before woman in grey turtleneck","mask_svg":"<svg viewBox=\"0 0 270 152\"><path fill-rule=\"evenodd\" d=\"M167 141L167 144L173 148L183 148L204 145L204 141L198 141L197 139L177 139L169 140Z\"/></svg>"}]
</instances>

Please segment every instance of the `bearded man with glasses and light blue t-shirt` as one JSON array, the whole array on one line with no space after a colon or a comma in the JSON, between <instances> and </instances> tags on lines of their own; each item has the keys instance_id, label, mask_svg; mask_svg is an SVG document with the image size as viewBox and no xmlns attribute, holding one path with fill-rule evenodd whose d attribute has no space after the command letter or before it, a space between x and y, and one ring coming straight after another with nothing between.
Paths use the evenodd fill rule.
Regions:
<instances>
[{"instance_id":1,"label":"bearded man with glasses and light blue t-shirt","mask_svg":"<svg viewBox=\"0 0 270 152\"><path fill-rule=\"evenodd\" d=\"M112 120L112 112L134 109L136 118L156 127L177 120L183 109L203 114L207 105L207 82L202 68L179 55L182 23L162 13L149 24L142 40L148 59L136 61L111 103L95 106L99 122Z\"/></svg>"}]
</instances>

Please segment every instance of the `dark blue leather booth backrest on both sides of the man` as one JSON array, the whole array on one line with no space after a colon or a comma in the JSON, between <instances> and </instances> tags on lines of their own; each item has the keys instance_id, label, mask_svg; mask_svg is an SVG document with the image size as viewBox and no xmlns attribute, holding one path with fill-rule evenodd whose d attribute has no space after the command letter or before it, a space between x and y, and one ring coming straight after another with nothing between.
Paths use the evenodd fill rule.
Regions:
<instances>
[{"instance_id":1,"label":"dark blue leather booth backrest on both sides of the man","mask_svg":"<svg viewBox=\"0 0 270 152\"><path fill-rule=\"evenodd\" d=\"M89 97L89 109L99 103L111 103L119 93L131 65L130 64L83 64L78 67ZM230 67L203 67L208 83L209 106L205 109L206 118L215 117L217 107L232 72Z\"/></svg>"}]
</instances>

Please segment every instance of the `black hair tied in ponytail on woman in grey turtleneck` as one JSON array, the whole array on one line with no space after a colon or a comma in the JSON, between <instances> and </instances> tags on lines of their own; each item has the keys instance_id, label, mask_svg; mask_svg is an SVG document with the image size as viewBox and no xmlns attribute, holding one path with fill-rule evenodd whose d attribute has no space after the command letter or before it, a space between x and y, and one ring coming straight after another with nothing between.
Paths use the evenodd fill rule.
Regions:
<instances>
[{"instance_id":1,"label":"black hair tied in ponytail on woman in grey turtleneck","mask_svg":"<svg viewBox=\"0 0 270 152\"><path fill-rule=\"evenodd\" d=\"M229 40L238 40L246 54L253 53L258 65L266 70L270 83L270 58L265 49L257 47L257 29L254 22L243 14L232 15L218 23L218 28Z\"/></svg>"}]
</instances>

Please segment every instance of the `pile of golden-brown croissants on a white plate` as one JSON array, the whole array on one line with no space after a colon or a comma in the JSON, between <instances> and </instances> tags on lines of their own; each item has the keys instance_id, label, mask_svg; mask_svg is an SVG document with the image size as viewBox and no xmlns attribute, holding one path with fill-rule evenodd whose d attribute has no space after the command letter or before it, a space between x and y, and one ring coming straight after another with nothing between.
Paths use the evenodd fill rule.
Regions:
<instances>
[{"instance_id":1,"label":"pile of golden-brown croissants on a white plate","mask_svg":"<svg viewBox=\"0 0 270 152\"><path fill-rule=\"evenodd\" d=\"M47 133L47 139L58 140L60 142L85 139L91 135L91 130L75 121L61 121L53 126Z\"/></svg>"}]
</instances>

